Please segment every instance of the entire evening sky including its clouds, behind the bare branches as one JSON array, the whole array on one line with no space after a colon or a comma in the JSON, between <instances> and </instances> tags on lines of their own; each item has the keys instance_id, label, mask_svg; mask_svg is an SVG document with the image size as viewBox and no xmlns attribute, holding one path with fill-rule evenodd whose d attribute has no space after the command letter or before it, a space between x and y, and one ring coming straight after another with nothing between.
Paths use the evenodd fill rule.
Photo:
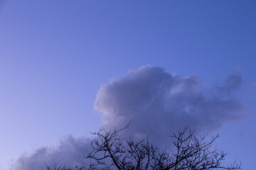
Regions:
<instances>
[{"instance_id":1,"label":"entire evening sky including its clouds, behind the bare branches","mask_svg":"<svg viewBox=\"0 0 256 170\"><path fill-rule=\"evenodd\" d=\"M77 163L90 132L129 120L159 145L219 132L256 169L255 30L249 0L0 0L0 170Z\"/></svg>"}]
</instances>

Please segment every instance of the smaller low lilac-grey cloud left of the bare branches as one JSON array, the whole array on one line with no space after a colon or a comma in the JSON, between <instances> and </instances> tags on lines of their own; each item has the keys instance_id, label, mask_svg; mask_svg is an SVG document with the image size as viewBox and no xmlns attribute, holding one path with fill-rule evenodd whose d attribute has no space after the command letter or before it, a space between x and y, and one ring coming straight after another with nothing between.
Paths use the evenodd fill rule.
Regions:
<instances>
[{"instance_id":1,"label":"smaller low lilac-grey cloud left of the bare branches","mask_svg":"<svg viewBox=\"0 0 256 170\"><path fill-rule=\"evenodd\" d=\"M46 165L58 163L74 166L81 164L84 154L90 150L90 138L68 136L60 141L58 147L41 147L33 154L23 154L11 170L45 170Z\"/></svg>"}]
</instances>

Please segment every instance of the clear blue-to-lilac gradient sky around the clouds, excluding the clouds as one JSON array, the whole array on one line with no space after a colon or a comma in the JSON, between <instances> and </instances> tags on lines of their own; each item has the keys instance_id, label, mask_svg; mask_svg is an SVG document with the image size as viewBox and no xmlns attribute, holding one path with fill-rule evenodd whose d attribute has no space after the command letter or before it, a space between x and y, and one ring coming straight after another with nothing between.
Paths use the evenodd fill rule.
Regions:
<instances>
[{"instance_id":1,"label":"clear blue-to-lilac gradient sky around the clouds, excluding the clouds","mask_svg":"<svg viewBox=\"0 0 256 170\"><path fill-rule=\"evenodd\" d=\"M218 147L256 169L256 1L0 1L0 169L102 125L97 91L142 65L205 86L242 76Z\"/></svg>"}]
</instances>

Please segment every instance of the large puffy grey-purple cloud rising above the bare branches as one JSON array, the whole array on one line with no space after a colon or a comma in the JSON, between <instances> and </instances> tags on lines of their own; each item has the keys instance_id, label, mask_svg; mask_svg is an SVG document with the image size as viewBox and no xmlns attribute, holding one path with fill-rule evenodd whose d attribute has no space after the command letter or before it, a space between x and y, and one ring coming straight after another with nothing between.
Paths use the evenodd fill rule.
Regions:
<instances>
[{"instance_id":1,"label":"large puffy grey-purple cloud rising above the bare branches","mask_svg":"<svg viewBox=\"0 0 256 170\"><path fill-rule=\"evenodd\" d=\"M190 125L193 130L218 130L240 118L239 74L206 88L196 75L178 77L162 67L142 66L103 84L95 109L103 113L105 128L124 127L125 135L149 136L163 142L172 132Z\"/></svg>"}]
</instances>

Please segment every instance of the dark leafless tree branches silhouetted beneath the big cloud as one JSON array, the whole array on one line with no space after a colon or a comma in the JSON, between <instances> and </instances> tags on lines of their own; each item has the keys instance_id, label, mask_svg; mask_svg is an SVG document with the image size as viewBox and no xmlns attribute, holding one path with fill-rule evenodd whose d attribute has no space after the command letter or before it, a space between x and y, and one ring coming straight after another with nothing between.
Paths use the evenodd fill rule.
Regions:
<instances>
[{"instance_id":1,"label":"dark leafless tree branches silhouetted beneath the big cloud","mask_svg":"<svg viewBox=\"0 0 256 170\"><path fill-rule=\"evenodd\" d=\"M127 127L125 127L127 128ZM174 133L172 147L160 149L148 138L126 139L120 130L100 130L92 133L92 152L87 154L90 164L77 166L85 169L118 170L203 170L203 169L240 169L238 162L225 165L225 152L213 149L213 142L219 135L208 139L208 135L196 137L189 128ZM71 170L71 169L48 170ZM80 168L80 169L79 169Z\"/></svg>"}]
</instances>

